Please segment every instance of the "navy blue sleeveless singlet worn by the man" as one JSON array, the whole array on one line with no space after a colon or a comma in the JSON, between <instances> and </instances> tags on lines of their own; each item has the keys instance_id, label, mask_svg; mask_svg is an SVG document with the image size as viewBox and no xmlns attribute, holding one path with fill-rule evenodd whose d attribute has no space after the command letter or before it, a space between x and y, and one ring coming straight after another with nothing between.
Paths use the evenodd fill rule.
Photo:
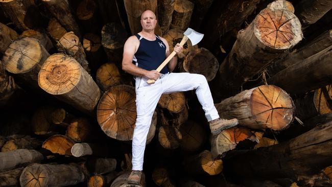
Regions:
<instances>
[{"instance_id":1,"label":"navy blue sleeveless singlet worn by the man","mask_svg":"<svg viewBox=\"0 0 332 187\"><path fill-rule=\"evenodd\" d=\"M149 71L157 69L166 58L165 44L157 35L156 40L154 41L147 40L139 34L136 34L135 36L139 40L139 47L134 55L133 63L135 63L138 67ZM169 73L167 65L161 69L160 73Z\"/></svg>"}]
</instances>

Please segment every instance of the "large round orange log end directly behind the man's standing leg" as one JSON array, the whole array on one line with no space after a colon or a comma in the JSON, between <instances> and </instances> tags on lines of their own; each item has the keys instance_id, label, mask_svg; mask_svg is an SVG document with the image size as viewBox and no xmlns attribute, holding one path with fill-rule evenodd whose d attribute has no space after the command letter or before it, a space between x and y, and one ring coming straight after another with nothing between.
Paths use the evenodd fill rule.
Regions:
<instances>
[{"instance_id":1,"label":"large round orange log end directly behind the man's standing leg","mask_svg":"<svg viewBox=\"0 0 332 187\"><path fill-rule=\"evenodd\" d=\"M104 93L97 107L97 120L109 137L121 141L132 139L136 104L135 88L127 85L111 87Z\"/></svg>"}]
</instances>

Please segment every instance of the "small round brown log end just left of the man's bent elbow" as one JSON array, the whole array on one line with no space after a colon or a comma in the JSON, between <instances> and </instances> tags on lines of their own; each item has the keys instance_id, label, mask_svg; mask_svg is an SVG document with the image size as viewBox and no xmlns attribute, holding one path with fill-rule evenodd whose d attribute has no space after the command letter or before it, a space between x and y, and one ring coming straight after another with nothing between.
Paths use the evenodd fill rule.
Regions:
<instances>
[{"instance_id":1,"label":"small round brown log end just left of the man's bent elbow","mask_svg":"<svg viewBox=\"0 0 332 187\"><path fill-rule=\"evenodd\" d=\"M97 71L96 82L103 91L122 83L120 72L115 63L105 63Z\"/></svg>"}]
</instances>

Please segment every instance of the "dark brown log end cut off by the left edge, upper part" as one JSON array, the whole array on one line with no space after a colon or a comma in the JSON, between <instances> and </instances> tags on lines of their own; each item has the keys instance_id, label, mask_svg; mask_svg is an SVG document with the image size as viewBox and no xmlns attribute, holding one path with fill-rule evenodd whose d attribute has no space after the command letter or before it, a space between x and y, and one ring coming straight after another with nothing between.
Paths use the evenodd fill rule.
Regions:
<instances>
[{"instance_id":1,"label":"dark brown log end cut off by the left edge, upper part","mask_svg":"<svg viewBox=\"0 0 332 187\"><path fill-rule=\"evenodd\" d=\"M18 34L16 31L0 23L0 53L5 53L12 41L16 40Z\"/></svg>"}]
</instances>

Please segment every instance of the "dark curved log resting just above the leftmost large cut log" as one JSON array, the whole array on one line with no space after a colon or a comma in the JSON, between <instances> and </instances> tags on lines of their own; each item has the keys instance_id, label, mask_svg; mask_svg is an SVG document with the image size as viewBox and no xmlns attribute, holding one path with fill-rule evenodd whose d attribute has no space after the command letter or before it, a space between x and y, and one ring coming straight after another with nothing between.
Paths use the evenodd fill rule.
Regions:
<instances>
[{"instance_id":1,"label":"dark curved log resting just above the leftmost large cut log","mask_svg":"<svg viewBox=\"0 0 332 187\"><path fill-rule=\"evenodd\" d=\"M23 31L21 35L19 35L19 38L25 38L25 37L36 38L47 51L50 51L53 48L51 39L48 37L48 35L46 35L46 33L42 31L31 29Z\"/></svg>"}]
</instances>

